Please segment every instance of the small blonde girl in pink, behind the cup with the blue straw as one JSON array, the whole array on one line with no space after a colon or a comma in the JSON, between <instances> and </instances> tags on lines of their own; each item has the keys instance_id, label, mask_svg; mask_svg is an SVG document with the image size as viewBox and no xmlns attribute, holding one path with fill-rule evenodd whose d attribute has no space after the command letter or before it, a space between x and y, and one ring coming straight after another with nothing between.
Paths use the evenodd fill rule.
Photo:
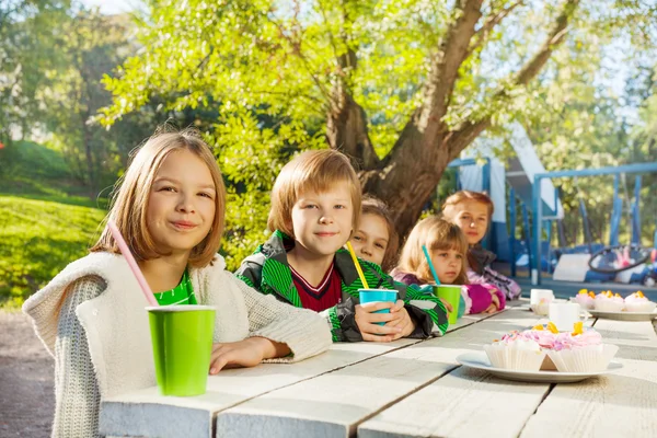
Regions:
<instances>
[{"instance_id":1,"label":"small blonde girl in pink, behind the cup with the blue straw","mask_svg":"<svg viewBox=\"0 0 657 438\"><path fill-rule=\"evenodd\" d=\"M399 266L393 270L395 280L406 285L435 284L423 251L427 247L438 279L443 285L461 285L459 314L495 312L504 309L504 295L484 285L469 285L468 241L461 229L437 216L420 220L408 234Z\"/></svg>"}]
</instances>

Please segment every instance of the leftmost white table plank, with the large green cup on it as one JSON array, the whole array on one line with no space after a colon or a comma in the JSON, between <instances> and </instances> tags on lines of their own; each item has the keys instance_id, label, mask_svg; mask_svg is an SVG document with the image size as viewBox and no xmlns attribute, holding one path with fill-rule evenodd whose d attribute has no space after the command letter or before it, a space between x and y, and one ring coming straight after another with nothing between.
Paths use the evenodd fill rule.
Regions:
<instances>
[{"instance_id":1,"label":"leftmost white table plank, with the large green cup on it","mask_svg":"<svg viewBox=\"0 0 657 438\"><path fill-rule=\"evenodd\" d=\"M417 342L334 344L328 351L299 364L223 370L208 377L204 395L193 397L162 396L157 387L117 395L101 405L100 431L116 436L209 437L215 413L221 410Z\"/></svg>"}]
</instances>

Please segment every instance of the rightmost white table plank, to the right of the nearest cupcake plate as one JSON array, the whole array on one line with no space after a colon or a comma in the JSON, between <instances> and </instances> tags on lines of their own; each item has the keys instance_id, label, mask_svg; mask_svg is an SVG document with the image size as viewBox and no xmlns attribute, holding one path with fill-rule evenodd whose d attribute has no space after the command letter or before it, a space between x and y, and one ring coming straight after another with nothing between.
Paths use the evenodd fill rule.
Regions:
<instances>
[{"instance_id":1,"label":"rightmost white table plank, to the right of the nearest cupcake plate","mask_svg":"<svg viewBox=\"0 0 657 438\"><path fill-rule=\"evenodd\" d=\"M557 384L521 437L657 436L657 335L653 324L599 319L595 327L606 342L620 346L614 360L624 368L580 383Z\"/></svg>"}]
</instances>

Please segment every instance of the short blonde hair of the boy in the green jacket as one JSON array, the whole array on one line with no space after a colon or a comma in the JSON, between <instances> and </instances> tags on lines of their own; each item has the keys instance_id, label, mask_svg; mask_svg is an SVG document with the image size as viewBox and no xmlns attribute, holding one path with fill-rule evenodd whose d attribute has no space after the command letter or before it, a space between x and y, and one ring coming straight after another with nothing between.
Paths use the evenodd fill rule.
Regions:
<instances>
[{"instance_id":1,"label":"short blonde hair of the boy in the green jacket","mask_svg":"<svg viewBox=\"0 0 657 438\"><path fill-rule=\"evenodd\" d=\"M336 183L349 184L354 216L351 232L360 221L361 188L349 159L335 150L312 150L299 154L281 170L272 189L272 210L267 219L269 231L292 231L292 207L303 192L323 193Z\"/></svg>"}]
</instances>

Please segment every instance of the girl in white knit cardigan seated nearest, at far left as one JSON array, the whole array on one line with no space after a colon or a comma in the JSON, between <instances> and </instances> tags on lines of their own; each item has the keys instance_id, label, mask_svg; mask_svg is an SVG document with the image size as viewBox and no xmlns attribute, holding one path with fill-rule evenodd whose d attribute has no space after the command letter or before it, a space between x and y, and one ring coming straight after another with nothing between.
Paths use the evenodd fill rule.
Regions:
<instances>
[{"instance_id":1,"label":"girl in white knit cardigan seated nearest, at far left","mask_svg":"<svg viewBox=\"0 0 657 438\"><path fill-rule=\"evenodd\" d=\"M134 157L108 218L161 306L216 307L210 373L324 351L331 333L313 312L264 297L217 254L226 194L209 147L193 131L151 137ZM55 357L54 437L99 435L102 399L155 384L148 302L107 228L23 306Z\"/></svg>"}]
</instances>

